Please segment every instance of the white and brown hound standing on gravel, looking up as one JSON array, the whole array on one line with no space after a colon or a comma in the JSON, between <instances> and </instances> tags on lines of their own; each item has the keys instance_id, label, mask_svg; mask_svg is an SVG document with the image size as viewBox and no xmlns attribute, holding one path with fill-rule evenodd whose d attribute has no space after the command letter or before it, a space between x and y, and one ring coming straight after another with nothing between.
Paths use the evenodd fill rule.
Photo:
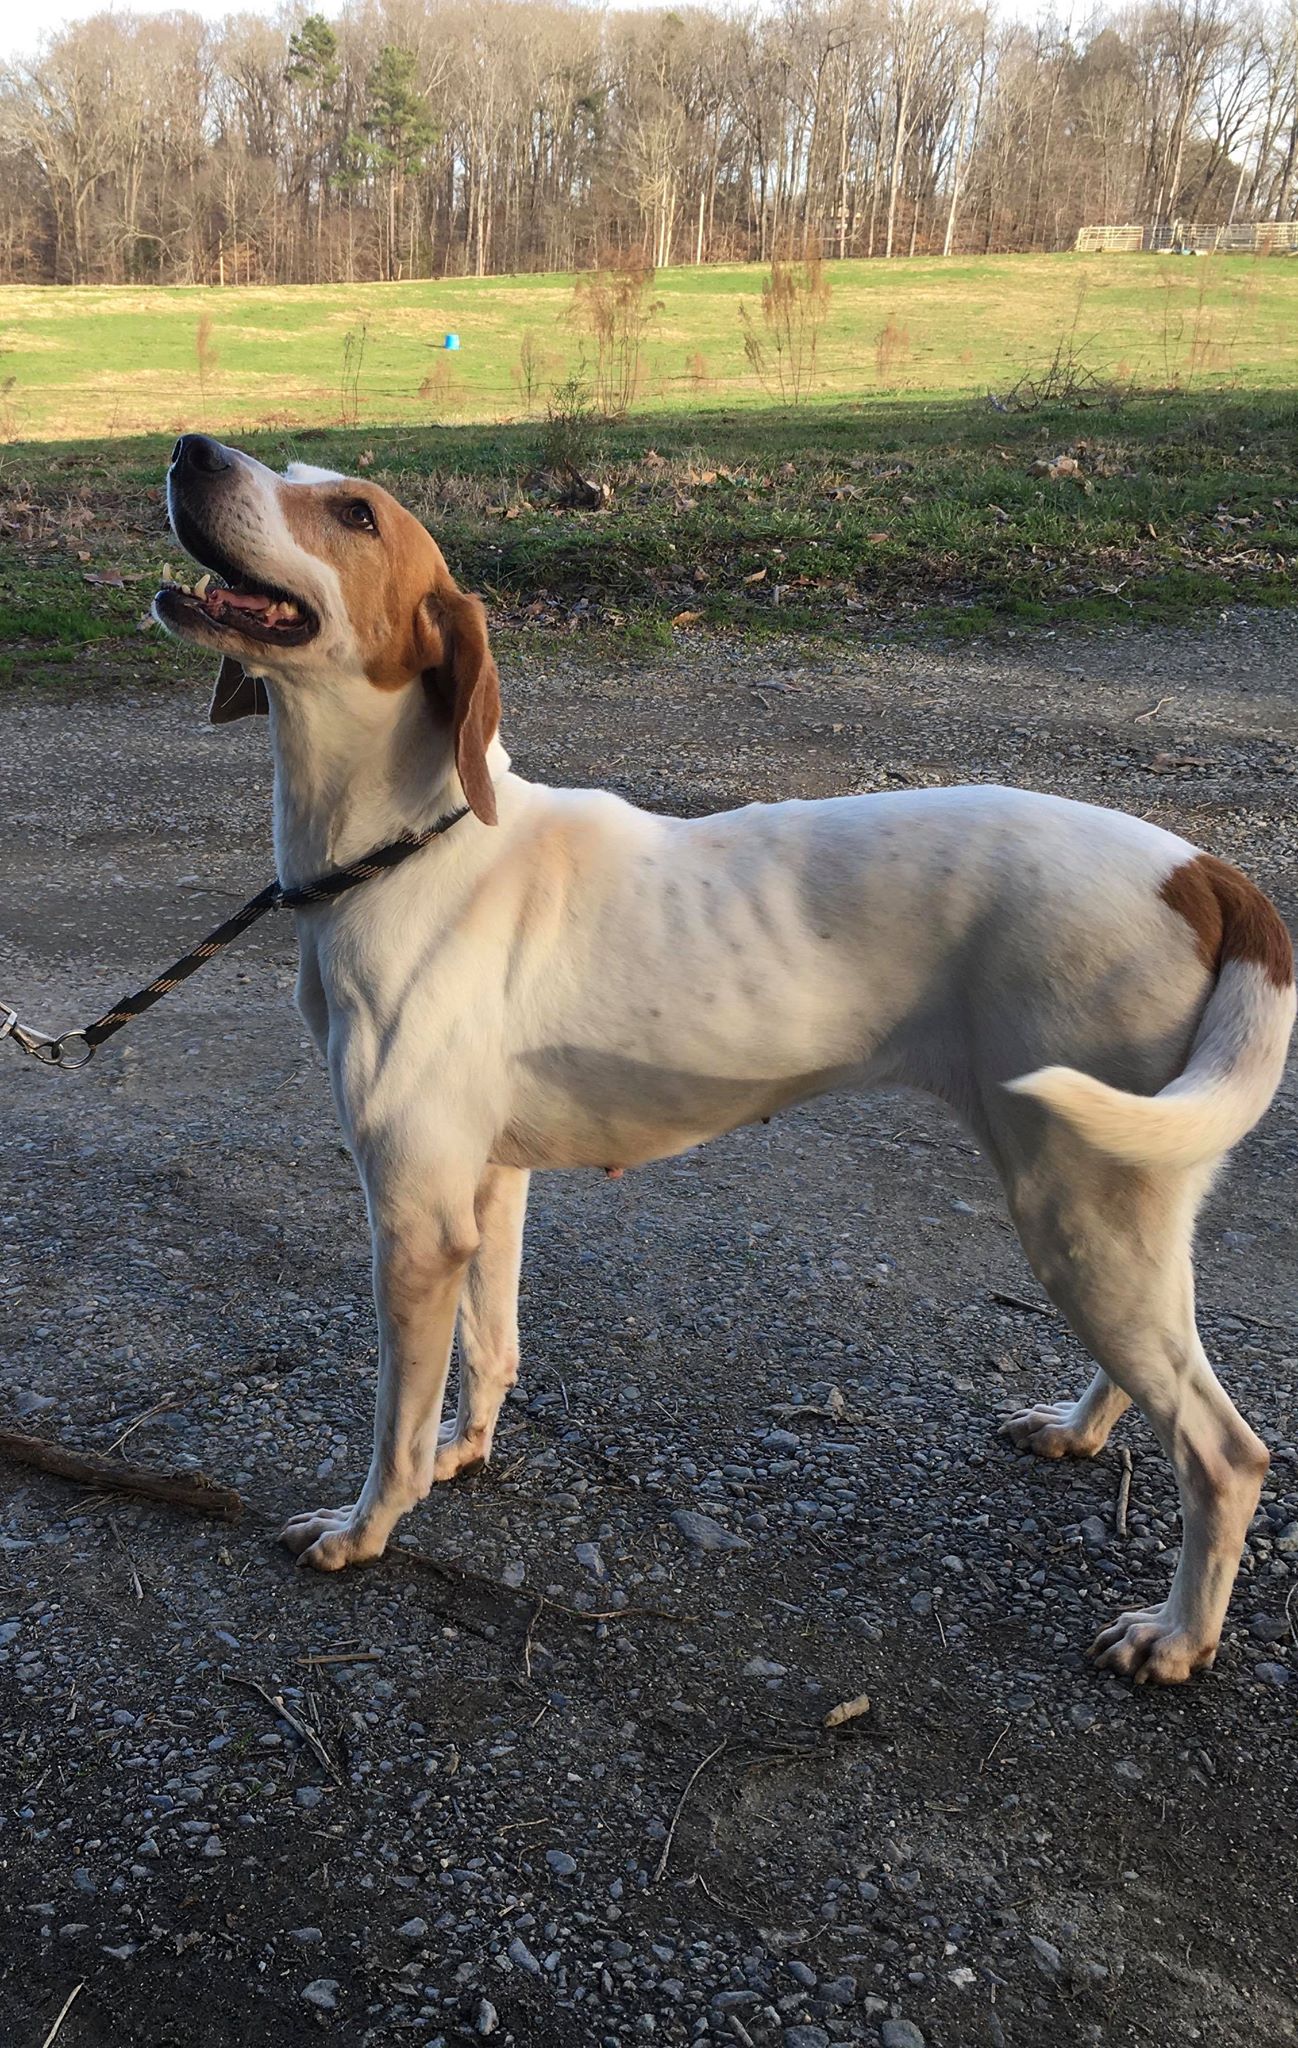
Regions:
<instances>
[{"instance_id":1,"label":"white and brown hound standing on gravel, looking up","mask_svg":"<svg viewBox=\"0 0 1298 2048\"><path fill-rule=\"evenodd\" d=\"M1210 1665L1267 1450L1204 1356L1189 1251L1294 1024L1292 944L1261 891L1157 825L1015 788L676 819L526 782L483 604L385 489L184 434L168 508L205 573L154 612L221 657L213 721L268 711L280 883L463 811L297 913L297 1004L364 1188L381 1343L369 1477L293 1516L299 1561L377 1559L434 1481L491 1456L532 1169L622 1169L901 1085L972 1130L1099 1368L1003 1434L1085 1458L1136 1401L1175 1468L1171 1591L1091 1655L1136 1681Z\"/></svg>"}]
</instances>

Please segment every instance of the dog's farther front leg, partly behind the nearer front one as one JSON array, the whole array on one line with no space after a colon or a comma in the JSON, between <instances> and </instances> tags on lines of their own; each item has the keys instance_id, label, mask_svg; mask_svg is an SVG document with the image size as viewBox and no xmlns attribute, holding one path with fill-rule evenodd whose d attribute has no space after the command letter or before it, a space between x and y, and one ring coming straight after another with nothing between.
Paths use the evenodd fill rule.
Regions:
<instances>
[{"instance_id":1,"label":"dog's farther front leg, partly behind the nearer front one","mask_svg":"<svg viewBox=\"0 0 1298 2048\"><path fill-rule=\"evenodd\" d=\"M528 1176L491 1165L477 1200L479 1247L465 1278L459 1317L459 1399L442 1423L434 1481L471 1473L491 1458L495 1419L518 1380L518 1270Z\"/></svg>"}]
</instances>

